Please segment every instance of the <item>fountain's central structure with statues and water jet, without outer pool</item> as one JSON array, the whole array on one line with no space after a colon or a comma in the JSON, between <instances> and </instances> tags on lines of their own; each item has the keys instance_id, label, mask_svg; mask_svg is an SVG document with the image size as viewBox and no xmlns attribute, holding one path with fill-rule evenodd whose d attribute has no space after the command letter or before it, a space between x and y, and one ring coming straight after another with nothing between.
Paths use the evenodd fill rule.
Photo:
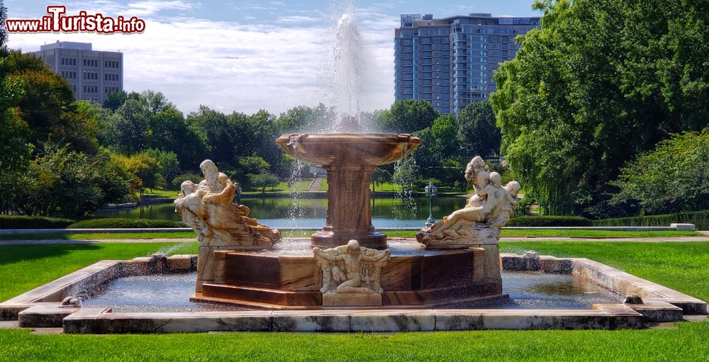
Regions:
<instances>
[{"instance_id":1,"label":"fountain's central structure with statues and water jet, without outer pool","mask_svg":"<svg viewBox=\"0 0 709 362\"><path fill-rule=\"evenodd\" d=\"M466 177L476 187L469 205L422 230L418 242L388 243L374 230L369 182L376 166L407 157L422 140L362 132L361 40L354 18L337 23L332 94L341 115L330 133L286 134L276 142L328 172L325 226L310 238L281 240L233 204L233 183L211 161L205 180L187 181L177 212L197 233L196 301L301 309L339 306L444 305L503 298L497 241L513 214L517 183L503 187L480 157ZM420 242L420 243L419 243ZM426 249L426 250L424 250Z\"/></svg>"}]
</instances>

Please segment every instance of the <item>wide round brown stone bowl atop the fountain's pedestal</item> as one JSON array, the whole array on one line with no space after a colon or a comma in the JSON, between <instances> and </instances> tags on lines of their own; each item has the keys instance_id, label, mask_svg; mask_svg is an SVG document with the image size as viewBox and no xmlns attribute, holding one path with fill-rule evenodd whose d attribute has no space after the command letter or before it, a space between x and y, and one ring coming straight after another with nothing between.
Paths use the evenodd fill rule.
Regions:
<instances>
[{"instance_id":1,"label":"wide round brown stone bowl atop the fountain's pedestal","mask_svg":"<svg viewBox=\"0 0 709 362\"><path fill-rule=\"evenodd\" d=\"M276 143L311 164L328 166L391 164L406 157L421 139L396 133L302 133L282 135Z\"/></svg>"}]
</instances>

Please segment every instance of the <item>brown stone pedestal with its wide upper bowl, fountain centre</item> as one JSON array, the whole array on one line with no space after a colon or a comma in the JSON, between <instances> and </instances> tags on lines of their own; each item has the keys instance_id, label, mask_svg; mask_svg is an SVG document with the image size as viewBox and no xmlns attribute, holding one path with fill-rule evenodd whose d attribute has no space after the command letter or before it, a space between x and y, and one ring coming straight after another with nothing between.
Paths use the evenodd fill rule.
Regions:
<instances>
[{"instance_id":1,"label":"brown stone pedestal with its wide upper bowl, fountain centre","mask_svg":"<svg viewBox=\"0 0 709 362\"><path fill-rule=\"evenodd\" d=\"M369 180L372 170L406 157L420 145L411 135L323 133L282 135L289 154L328 171L328 216L311 237L313 247L331 248L356 239L362 247L386 248L386 235L372 226Z\"/></svg>"}]
</instances>

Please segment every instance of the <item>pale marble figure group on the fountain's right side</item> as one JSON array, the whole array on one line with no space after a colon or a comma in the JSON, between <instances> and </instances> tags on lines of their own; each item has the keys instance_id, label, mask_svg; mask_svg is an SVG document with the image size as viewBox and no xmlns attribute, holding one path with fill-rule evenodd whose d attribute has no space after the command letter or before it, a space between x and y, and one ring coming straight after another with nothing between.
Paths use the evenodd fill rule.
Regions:
<instances>
[{"instance_id":1,"label":"pale marble figure group on the fountain's right side","mask_svg":"<svg viewBox=\"0 0 709 362\"><path fill-rule=\"evenodd\" d=\"M430 228L421 230L416 238L429 247L436 245L469 245L496 242L500 229L514 216L520 183L501 184L497 172L489 172L479 156L471 159L465 179L473 184L474 196L467 205L443 217Z\"/></svg>"}]
</instances>

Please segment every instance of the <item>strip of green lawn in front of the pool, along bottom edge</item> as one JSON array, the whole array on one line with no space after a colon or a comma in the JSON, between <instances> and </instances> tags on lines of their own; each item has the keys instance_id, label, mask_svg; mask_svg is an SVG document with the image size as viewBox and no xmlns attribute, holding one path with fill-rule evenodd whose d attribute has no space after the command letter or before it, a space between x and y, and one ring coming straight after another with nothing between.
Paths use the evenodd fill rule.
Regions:
<instances>
[{"instance_id":1,"label":"strip of green lawn in front of the pool, along bottom edge","mask_svg":"<svg viewBox=\"0 0 709 362\"><path fill-rule=\"evenodd\" d=\"M0 332L8 361L706 361L709 323L625 331L399 334L31 335Z\"/></svg>"}]
</instances>

